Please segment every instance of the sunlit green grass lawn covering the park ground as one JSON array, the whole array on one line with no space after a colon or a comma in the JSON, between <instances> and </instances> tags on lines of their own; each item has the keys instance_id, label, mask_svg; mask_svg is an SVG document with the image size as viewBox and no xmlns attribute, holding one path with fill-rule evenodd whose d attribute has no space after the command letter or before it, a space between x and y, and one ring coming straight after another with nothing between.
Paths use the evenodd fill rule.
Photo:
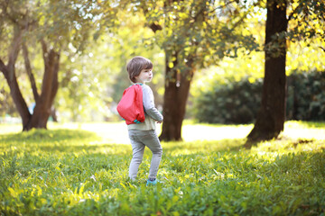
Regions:
<instances>
[{"instance_id":1,"label":"sunlit green grass lawn covering the park ground","mask_svg":"<svg viewBox=\"0 0 325 216\"><path fill-rule=\"evenodd\" d=\"M324 215L325 124L289 121L242 148L252 125L185 124L163 144L156 187L127 178L122 123L0 125L0 215Z\"/></svg>"}]
</instances>

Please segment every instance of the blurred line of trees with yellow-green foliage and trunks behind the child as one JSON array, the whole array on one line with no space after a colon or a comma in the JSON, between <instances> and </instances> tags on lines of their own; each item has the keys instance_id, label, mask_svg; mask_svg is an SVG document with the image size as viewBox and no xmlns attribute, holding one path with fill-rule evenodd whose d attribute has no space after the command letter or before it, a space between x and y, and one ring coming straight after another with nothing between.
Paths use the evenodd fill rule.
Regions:
<instances>
[{"instance_id":1,"label":"blurred line of trees with yellow-green foliage and trunks behind the child","mask_svg":"<svg viewBox=\"0 0 325 216\"><path fill-rule=\"evenodd\" d=\"M96 118L98 110L109 113L128 85L126 60L143 55L153 59L153 87L163 95L157 97L165 116L161 139L181 139L194 75L264 50L262 105L248 138L271 139L285 120L288 46L302 40L323 48L323 12L323 1L302 0L2 0L1 95L10 92L23 130L46 128L53 104L74 120ZM256 33L264 26L265 34Z\"/></svg>"}]
</instances>

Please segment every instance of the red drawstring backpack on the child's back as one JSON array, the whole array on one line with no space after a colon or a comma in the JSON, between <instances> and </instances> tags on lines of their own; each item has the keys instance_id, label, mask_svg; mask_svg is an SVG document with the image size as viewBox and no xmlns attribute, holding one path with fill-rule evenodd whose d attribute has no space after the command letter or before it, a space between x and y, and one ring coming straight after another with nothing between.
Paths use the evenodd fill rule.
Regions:
<instances>
[{"instance_id":1,"label":"red drawstring backpack on the child's back","mask_svg":"<svg viewBox=\"0 0 325 216\"><path fill-rule=\"evenodd\" d=\"M142 84L131 85L125 89L116 110L126 124L144 122L144 102Z\"/></svg>"}]
</instances>

